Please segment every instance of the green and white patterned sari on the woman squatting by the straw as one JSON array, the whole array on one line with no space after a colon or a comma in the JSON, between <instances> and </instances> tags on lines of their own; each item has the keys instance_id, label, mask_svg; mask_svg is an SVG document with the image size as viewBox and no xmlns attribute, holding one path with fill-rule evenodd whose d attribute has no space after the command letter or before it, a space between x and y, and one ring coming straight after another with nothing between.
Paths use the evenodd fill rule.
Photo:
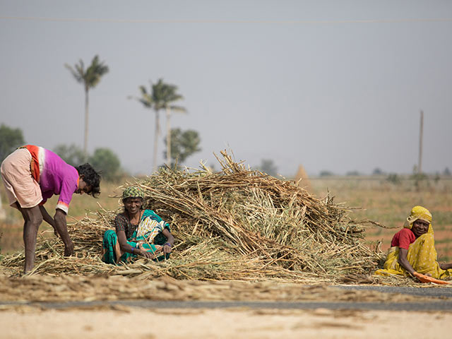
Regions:
<instances>
[{"instance_id":1,"label":"green and white patterned sari on the woman squatting by the straw","mask_svg":"<svg viewBox=\"0 0 452 339\"><path fill-rule=\"evenodd\" d=\"M136 234L140 226L149 223L150 221L155 221L153 222L153 230L137 237ZM144 251L155 253L157 249L160 249L160 247L167 242L167 237L162 234L162 231L165 228L169 230L169 224L167 222L164 222L153 210L144 210L140 222L138 222L138 227L133 232L132 236L127 239L127 244L132 247L138 247ZM151 234L153 235L151 236ZM154 236L154 234L157 235ZM150 236L153 237L153 239L150 239ZM137 257L136 254L121 251L118 236L114 230L105 231L102 239L102 261L114 265L121 265L121 262L130 263ZM153 258L153 261L162 261L167 258L169 258L169 254L166 256L162 254Z\"/></svg>"}]
</instances>

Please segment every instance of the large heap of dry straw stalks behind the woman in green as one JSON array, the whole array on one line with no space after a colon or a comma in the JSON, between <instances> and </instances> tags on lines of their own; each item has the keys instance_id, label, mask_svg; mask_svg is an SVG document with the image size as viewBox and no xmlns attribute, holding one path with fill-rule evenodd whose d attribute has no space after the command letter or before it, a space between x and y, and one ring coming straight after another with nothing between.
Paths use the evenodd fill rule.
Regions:
<instances>
[{"instance_id":1,"label":"large heap of dry straw stalks behind the woman in green","mask_svg":"<svg viewBox=\"0 0 452 339\"><path fill-rule=\"evenodd\" d=\"M221 154L220 172L160 169L133 183L145 191L145 206L171 224L176 246L168 261L140 259L126 266L100 261L102 234L112 228L119 208L69 226L76 246L71 258L61 257L61 241L38 239L34 272L336 281L376 268L381 252L361 241L368 221L356 222L347 216L350 208L331 198L319 200L294 182L246 169ZM22 251L1 265L20 272L23 261Z\"/></svg>"}]
</instances>

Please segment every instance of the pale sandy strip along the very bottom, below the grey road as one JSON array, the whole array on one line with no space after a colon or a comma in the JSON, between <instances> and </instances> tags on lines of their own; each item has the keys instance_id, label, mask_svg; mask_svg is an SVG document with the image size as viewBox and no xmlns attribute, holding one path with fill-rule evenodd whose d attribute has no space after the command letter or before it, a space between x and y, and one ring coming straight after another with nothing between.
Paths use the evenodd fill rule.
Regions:
<instances>
[{"instance_id":1,"label":"pale sandy strip along the very bottom, below the grey road","mask_svg":"<svg viewBox=\"0 0 452 339\"><path fill-rule=\"evenodd\" d=\"M0 338L450 338L452 313L129 307L0 312ZM398 333L396 333L398 332Z\"/></svg>"}]
</instances>

